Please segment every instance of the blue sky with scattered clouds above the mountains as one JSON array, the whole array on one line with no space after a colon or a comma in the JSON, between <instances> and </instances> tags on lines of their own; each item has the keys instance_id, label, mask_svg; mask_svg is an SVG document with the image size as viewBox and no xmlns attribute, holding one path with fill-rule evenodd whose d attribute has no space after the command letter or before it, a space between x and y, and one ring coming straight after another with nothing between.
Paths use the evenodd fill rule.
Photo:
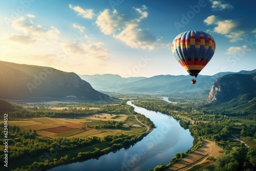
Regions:
<instances>
[{"instance_id":1,"label":"blue sky with scattered clouds above the mountains","mask_svg":"<svg viewBox=\"0 0 256 171\"><path fill-rule=\"evenodd\" d=\"M172 53L172 42L179 33L198 30L216 41L201 75L256 69L253 0L0 3L2 61L80 75L188 75Z\"/></svg>"}]
</instances>

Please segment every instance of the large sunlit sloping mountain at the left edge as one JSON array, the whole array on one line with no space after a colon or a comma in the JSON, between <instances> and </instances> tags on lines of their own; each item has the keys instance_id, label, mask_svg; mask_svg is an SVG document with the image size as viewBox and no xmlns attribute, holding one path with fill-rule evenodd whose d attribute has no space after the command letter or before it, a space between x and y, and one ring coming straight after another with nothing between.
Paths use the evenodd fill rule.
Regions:
<instances>
[{"instance_id":1,"label":"large sunlit sloping mountain at the left edge","mask_svg":"<svg viewBox=\"0 0 256 171\"><path fill-rule=\"evenodd\" d=\"M75 73L50 67L20 65L0 61L0 98L66 98L109 100Z\"/></svg>"}]
</instances>

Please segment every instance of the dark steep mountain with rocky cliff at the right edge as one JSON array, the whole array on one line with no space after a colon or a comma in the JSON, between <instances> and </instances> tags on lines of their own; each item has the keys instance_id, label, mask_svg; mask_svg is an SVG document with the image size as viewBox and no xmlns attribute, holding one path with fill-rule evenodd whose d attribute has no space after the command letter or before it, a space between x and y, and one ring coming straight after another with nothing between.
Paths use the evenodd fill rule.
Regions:
<instances>
[{"instance_id":1,"label":"dark steep mountain with rocky cliff at the right edge","mask_svg":"<svg viewBox=\"0 0 256 171\"><path fill-rule=\"evenodd\" d=\"M224 102L243 94L256 95L255 72L250 74L228 74L217 78L211 86L206 102Z\"/></svg>"}]
</instances>

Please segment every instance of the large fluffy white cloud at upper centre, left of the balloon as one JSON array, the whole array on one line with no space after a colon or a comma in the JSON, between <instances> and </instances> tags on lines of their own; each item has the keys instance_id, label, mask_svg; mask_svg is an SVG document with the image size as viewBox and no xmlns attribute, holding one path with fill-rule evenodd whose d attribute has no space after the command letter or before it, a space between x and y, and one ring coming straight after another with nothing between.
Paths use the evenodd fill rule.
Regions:
<instances>
[{"instance_id":1,"label":"large fluffy white cloud at upper centre, left of the balloon","mask_svg":"<svg viewBox=\"0 0 256 171\"><path fill-rule=\"evenodd\" d=\"M146 6L142 6L142 9L145 10ZM150 34L148 30L140 28L140 19L147 17L147 12L139 8L135 10L140 14L139 19L128 19L125 15L120 15L117 10L112 12L105 9L98 15L96 24L102 33L112 34L113 37L123 41L125 45L131 48L153 50L160 47L161 42L157 41L156 37Z\"/></svg>"}]
</instances>

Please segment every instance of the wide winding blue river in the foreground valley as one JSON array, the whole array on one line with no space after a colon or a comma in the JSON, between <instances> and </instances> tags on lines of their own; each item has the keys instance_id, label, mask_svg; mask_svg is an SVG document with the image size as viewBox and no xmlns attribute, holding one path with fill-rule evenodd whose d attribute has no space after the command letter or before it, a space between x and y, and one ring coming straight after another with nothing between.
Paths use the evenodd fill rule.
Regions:
<instances>
[{"instance_id":1,"label":"wide winding blue river in the foreground valley","mask_svg":"<svg viewBox=\"0 0 256 171\"><path fill-rule=\"evenodd\" d=\"M156 128L150 134L130 148L122 148L98 159L61 165L50 170L147 171L161 163L169 163L176 153L185 153L193 146L193 137L189 130L184 130L172 116L140 108L132 104L132 101L127 101L127 104L134 106L135 112L145 115L155 123Z\"/></svg>"}]
</instances>

